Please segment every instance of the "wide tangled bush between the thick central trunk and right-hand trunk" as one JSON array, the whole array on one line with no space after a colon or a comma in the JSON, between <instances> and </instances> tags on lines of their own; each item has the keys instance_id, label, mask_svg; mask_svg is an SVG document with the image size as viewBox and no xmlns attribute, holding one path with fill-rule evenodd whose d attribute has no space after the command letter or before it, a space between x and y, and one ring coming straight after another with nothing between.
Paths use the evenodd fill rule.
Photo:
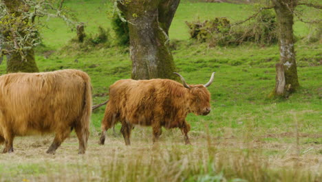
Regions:
<instances>
[{"instance_id":1,"label":"wide tangled bush between the thick central trunk and right-hand trunk","mask_svg":"<svg viewBox=\"0 0 322 182\"><path fill-rule=\"evenodd\" d=\"M255 21L244 26L232 26L225 17L216 17L204 22L186 22L192 39L211 46L239 45L243 42L260 44L277 43L277 22L272 10L264 10Z\"/></svg>"}]
</instances>

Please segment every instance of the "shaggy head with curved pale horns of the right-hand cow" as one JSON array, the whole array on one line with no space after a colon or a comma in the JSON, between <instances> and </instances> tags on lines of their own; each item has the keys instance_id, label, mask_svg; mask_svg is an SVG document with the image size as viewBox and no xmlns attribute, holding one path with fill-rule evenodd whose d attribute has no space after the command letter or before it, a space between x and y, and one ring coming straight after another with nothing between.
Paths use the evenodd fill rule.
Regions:
<instances>
[{"instance_id":1,"label":"shaggy head with curved pale horns of the right-hand cow","mask_svg":"<svg viewBox=\"0 0 322 182\"><path fill-rule=\"evenodd\" d=\"M189 111L193 112L196 115L207 115L211 112L211 105L210 105L210 93L207 90L207 87L213 83L213 78L215 76L215 72L211 74L211 79L208 83L202 85L188 85L186 81L184 81L184 77L182 77L179 73L177 74L181 81L182 85L185 88L189 89L189 94L187 96L187 104L189 107Z\"/></svg>"}]
</instances>

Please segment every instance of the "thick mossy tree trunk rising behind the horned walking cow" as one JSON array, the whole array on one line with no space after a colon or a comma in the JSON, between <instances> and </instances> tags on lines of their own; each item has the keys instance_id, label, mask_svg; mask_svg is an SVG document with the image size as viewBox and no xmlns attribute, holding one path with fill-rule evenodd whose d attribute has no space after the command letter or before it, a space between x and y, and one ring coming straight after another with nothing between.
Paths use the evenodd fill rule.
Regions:
<instances>
[{"instance_id":1,"label":"thick mossy tree trunk rising behind the horned walking cow","mask_svg":"<svg viewBox=\"0 0 322 182\"><path fill-rule=\"evenodd\" d=\"M180 0L118 1L129 25L132 79L178 79L169 27Z\"/></svg>"}]
</instances>

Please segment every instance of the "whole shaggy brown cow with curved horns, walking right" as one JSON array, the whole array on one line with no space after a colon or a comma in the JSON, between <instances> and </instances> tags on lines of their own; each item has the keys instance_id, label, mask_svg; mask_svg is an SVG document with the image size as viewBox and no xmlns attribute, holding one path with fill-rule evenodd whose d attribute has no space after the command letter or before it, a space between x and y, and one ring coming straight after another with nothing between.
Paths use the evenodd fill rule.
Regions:
<instances>
[{"instance_id":1,"label":"whole shaggy brown cow with curved horns, walking right","mask_svg":"<svg viewBox=\"0 0 322 182\"><path fill-rule=\"evenodd\" d=\"M178 74L178 73L175 73ZM180 76L182 84L169 79L116 81L109 87L109 102L102 121L100 144L105 142L107 129L118 121L122 123L125 144L130 145L133 125L151 125L153 142L158 141L164 128L180 128L184 142L189 144L189 123L186 115L206 115L211 111L210 93L206 89L213 82L215 72L205 85L188 85Z\"/></svg>"}]
</instances>

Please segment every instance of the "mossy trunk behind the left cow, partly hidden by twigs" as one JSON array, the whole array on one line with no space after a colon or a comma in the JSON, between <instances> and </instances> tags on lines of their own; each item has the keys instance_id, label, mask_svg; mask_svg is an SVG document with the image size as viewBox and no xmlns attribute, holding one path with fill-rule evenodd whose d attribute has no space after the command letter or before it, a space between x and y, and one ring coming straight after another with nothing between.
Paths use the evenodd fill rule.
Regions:
<instances>
[{"instance_id":1,"label":"mossy trunk behind the left cow, partly hidden by twigs","mask_svg":"<svg viewBox=\"0 0 322 182\"><path fill-rule=\"evenodd\" d=\"M23 1L21 0L4 0L6 7L10 13L14 13L14 16L21 16L19 10L28 10L28 6L23 6ZM25 20L28 21L28 20ZM25 32L19 32L22 36L25 36ZM6 37L6 32L3 32L3 35ZM14 39L11 37L10 39ZM24 50L22 52L17 50L10 50L10 53L7 55L7 72L39 72L39 69L34 60L34 50Z\"/></svg>"}]
</instances>

